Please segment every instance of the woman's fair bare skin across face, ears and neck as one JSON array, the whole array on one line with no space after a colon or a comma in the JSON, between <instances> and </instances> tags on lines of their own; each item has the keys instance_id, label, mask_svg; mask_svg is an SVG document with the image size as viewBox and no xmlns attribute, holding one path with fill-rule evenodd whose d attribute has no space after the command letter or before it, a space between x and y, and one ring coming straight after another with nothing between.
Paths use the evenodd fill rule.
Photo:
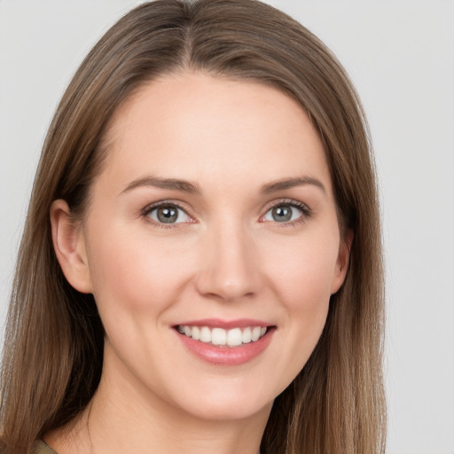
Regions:
<instances>
[{"instance_id":1,"label":"woman's fair bare skin across face, ears and neck","mask_svg":"<svg viewBox=\"0 0 454 454\"><path fill-rule=\"evenodd\" d=\"M62 270L95 295L106 328L103 375L90 411L44 439L59 454L256 454L273 399L307 362L347 270L351 234L340 237L320 138L278 90L185 73L146 84L106 142L82 222L70 222L64 200L51 208ZM150 176L198 192L137 183ZM309 183L262 192L301 177ZM163 227L145 213L162 200L183 208L182 222ZM291 221L275 220L278 205ZM276 329L235 366L194 356L174 329L245 317Z\"/></svg>"}]
</instances>

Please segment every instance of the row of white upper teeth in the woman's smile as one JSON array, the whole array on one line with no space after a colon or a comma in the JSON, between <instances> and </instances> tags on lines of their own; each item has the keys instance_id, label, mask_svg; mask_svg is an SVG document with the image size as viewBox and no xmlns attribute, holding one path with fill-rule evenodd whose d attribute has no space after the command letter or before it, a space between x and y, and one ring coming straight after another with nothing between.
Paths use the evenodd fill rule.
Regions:
<instances>
[{"instance_id":1,"label":"row of white upper teeth in the woman's smile","mask_svg":"<svg viewBox=\"0 0 454 454\"><path fill-rule=\"evenodd\" d=\"M247 326L224 330L223 328L208 328L207 326L178 325L178 333L182 333L193 340L200 340L205 343L212 343L220 347L239 347L239 345L255 342L267 332L264 326Z\"/></svg>"}]
</instances>

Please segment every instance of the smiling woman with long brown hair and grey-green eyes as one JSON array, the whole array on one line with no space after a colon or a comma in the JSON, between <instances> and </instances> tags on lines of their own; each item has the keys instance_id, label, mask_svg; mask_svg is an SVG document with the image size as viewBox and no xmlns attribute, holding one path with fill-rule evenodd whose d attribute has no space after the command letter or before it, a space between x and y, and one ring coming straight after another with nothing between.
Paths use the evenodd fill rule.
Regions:
<instances>
[{"instance_id":1,"label":"smiling woman with long brown hair and grey-green eyes","mask_svg":"<svg viewBox=\"0 0 454 454\"><path fill-rule=\"evenodd\" d=\"M112 27L37 170L4 452L382 452L364 125L333 55L265 4L157 1Z\"/></svg>"}]
</instances>

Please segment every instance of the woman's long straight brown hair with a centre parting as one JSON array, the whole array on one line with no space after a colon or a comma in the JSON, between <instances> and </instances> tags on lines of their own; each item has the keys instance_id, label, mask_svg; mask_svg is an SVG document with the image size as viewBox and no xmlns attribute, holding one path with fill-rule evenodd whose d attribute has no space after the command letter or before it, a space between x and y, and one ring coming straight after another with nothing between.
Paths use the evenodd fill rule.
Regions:
<instances>
[{"instance_id":1,"label":"woman's long straight brown hair with a centre parting","mask_svg":"<svg viewBox=\"0 0 454 454\"><path fill-rule=\"evenodd\" d=\"M104 331L91 294L67 283L49 211L89 202L109 119L145 82L186 70L268 84L296 99L325 145L341 228L354 231L344 285L317 348L277 397L262 438L271 454L384 452L384 318L376 178L348 76L301 24L255 0L157 0L129 12L90 51L51 123L20 245L2 369L4 452L23 454L86 408Z\"/></svg>"}]
</instances>

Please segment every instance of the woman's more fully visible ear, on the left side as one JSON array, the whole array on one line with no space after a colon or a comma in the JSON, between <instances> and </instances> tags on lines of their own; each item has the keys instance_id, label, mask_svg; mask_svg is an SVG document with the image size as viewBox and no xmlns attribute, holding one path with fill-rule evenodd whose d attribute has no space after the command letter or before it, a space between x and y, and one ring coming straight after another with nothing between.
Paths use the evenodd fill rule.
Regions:
<instances>
[{"instance_id":1,"label":"woman's more fully visible ear, on the left side","mask_svg":"<svg viewBox=\"0 0 454 454\"><path fill-rule=\"evenodd\" d=\"M57 260L67 281L79 292L92 292L90 269L82 224L74 223L65 200L51 205L52 242Z\"/></svg>"}]
</instances>

